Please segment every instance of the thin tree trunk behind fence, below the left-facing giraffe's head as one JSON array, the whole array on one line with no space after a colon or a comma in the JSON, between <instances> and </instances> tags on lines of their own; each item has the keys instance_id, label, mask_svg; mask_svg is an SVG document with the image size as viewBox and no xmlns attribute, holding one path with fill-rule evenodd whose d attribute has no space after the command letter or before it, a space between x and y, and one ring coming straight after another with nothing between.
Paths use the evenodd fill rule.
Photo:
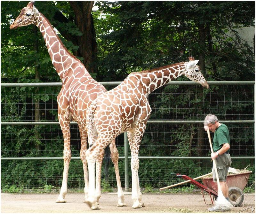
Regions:
<instances>
[{"instance_id":1,"label":"thin tree trunk behind fence, below the left-facing giraffe's head","mask_svg":"<svg viewBox=\"0 0 256 214\"><path fill-rule=\"evenodd\" d=\"M37 35L37 27L34 25L33 26L33 32L34 32L34 53L35 54L38 54L38 35ZM40 69L40 66L36 60L36 65L35 65L35 79L36 80L40 80L40 73L39 73L39 69ZM36 94L38 92L39 88L36 88ZM38 122L40 121L40 107L39 107L39 98L38 99L35 99L35 122ZM41 146L40 144L38 143L40 141L40 134L38 132L38 128L39 128L39 125L35 125L35 137L36 137L36 143L35 143L35 147L36 147L36 150L37 150L37 154L38 156L41 155Z\"/></svg>"}]
</instances>

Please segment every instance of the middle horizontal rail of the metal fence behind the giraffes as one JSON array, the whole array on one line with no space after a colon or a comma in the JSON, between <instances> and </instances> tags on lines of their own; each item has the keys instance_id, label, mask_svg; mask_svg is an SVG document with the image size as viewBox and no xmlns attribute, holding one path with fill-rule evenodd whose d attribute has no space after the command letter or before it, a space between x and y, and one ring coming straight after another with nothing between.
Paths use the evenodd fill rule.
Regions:
<instances>
[{"instance_id":1,"label":"middle horizontal rail of the metal fence behind the giraffes","mask_svg":"<svg viewBox=\"0 0 256 214\"><path fill-rule=\"evenodd\" d=\"M241 124L241 123L254 123L255 120L220 120L220 123L227 124ZM148 120L148 124L201 124L203 120ZM21 125L59 125L58 121L55 122L1 122L2 126L21 126ZM70 122L71 125L76 125L76 122Z\"/></svg>"}]
</instances>

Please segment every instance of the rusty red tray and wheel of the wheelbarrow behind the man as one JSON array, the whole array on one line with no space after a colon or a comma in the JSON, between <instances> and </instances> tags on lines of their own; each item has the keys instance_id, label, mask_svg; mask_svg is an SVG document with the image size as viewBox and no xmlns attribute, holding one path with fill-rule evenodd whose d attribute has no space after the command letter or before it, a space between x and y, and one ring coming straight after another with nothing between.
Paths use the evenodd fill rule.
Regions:
<instances>
[{"instance_id":1,"label":"rusty red tray and wheel of the wheelbarrow behind the man","mask_svg":"<svg viewBox=\"0 0 256 214\"><path fill-rule=\"evenodd\" d=\"M249 176L252 171L229 174L227 176L227 185L228 185L228 197L230 203L237 207L241 205L244 201L243 190L246 186ZM213 178L204 178L203 183L206 187L211 190L218 192L218 186L216 182L213 182Z\"/></svg>"}]
</instances>

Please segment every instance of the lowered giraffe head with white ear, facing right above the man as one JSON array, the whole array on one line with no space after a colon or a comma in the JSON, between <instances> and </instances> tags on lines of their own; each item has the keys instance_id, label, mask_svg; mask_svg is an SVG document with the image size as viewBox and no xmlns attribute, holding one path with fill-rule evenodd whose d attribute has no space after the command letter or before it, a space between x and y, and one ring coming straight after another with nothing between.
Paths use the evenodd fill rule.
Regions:
<instances>
[{"instance_id":1,"label":"lowered giraffe head with white ear, facing right above the man","mask_svg":"<svg viewBox=\"0 0 256 214\"><path fill-rule=\"evenodd\" d=\"M188 57L189 62L185 62L185 70L183 75L188 77L188 79L200 83L203 87L209 88L207 81L204 79L203 74L200 71L200 67L196 65L199 60L195 60L194 57Z\"/></svg>"}]
</instances>

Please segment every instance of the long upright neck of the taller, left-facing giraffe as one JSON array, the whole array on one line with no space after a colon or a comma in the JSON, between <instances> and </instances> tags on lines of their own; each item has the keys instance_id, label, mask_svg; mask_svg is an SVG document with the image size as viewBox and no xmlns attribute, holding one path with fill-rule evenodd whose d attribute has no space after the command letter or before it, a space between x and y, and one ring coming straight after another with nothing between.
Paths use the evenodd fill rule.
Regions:
<instances>
[{"instance_id":1,"label":"long upright neck of the taller, left-facing giraffe","mask_svg":"<svg viewBox=\"0 0 256 214\"><path fill-rule=\"evenodd\" d=\"M42 13L39 12L38 14L36 26L43 35L52 64L59 74L60 79L63 80L70 71L81 72L81 70L84 70L85 75L90 75L80 60L74 57L63 45L48 19ZM80 69L75 69L76 67L80 67Z\"/></svg>"}]
</instances>

